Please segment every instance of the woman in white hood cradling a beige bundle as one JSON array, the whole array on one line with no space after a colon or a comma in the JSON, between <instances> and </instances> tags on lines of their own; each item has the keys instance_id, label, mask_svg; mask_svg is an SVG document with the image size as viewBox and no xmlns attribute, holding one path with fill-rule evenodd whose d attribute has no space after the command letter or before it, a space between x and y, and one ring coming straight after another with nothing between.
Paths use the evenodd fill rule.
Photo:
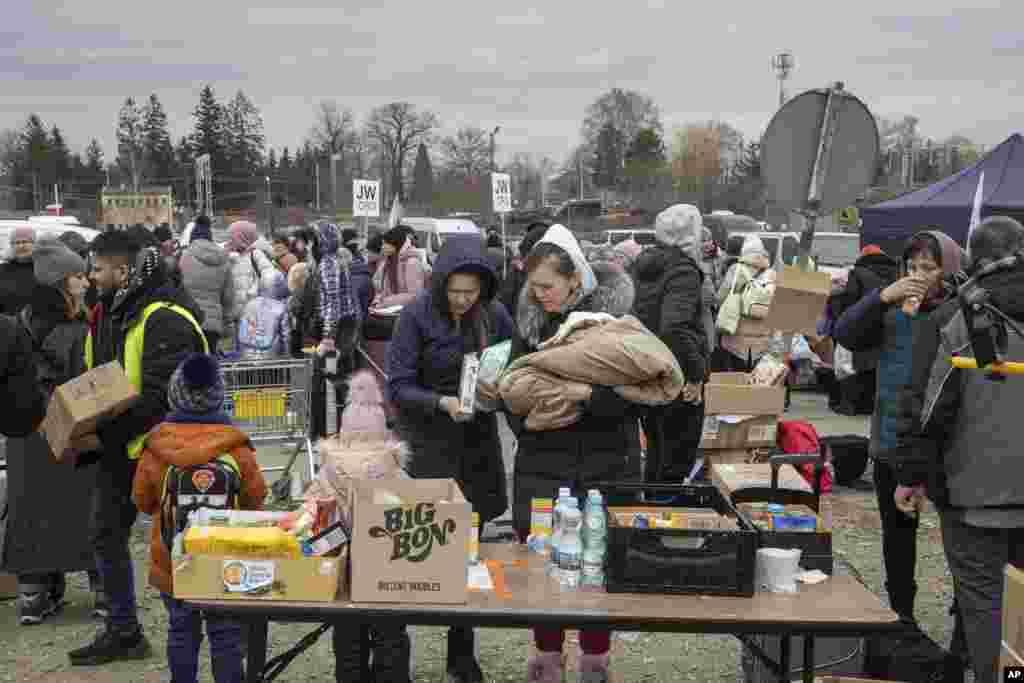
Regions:
<instances>
[{"instance_id":1,"label":"woman in white hood cradling a beige bundle","mask_svg":"<svg viewBox=\"0 0 1024 683\"><path fill-rule=\"evenodd\" d=\"M519 296L516 335L509 362L537 351L573 312L625 315L633 307L633 281L621 268L592 266L579 242L562 225L553 225L526 258L526 286ZM565 398L583 405L583 418L566 427L530 431L510 417L518 438L515 463L513 523L519 539L529 533L530 501L551 498L559 486L585 496L597 481L640 478L639 413L614 389L567 383ZM605 492L607 493L607 492ZM609 497L611 504L618 501ZM539 654L530 659L531 683L557 683L562 675L565 633L558 628L534 630ZM578 670L588 680L608 680L610 633L580 632L583 655Z\"/></svg>"}]
</instances>

